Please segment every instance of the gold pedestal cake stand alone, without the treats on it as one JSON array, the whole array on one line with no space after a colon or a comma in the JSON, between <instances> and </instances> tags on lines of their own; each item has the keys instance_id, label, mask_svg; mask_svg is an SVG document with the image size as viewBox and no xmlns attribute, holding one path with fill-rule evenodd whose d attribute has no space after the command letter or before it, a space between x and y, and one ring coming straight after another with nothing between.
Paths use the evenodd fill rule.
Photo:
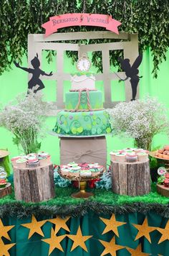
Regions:
<instances>
[{"instance_id":1,"label":"gold pedestal cake stand alone, without the treats on it","mask_svg":"<svg viewBox=\"0 0 169 256\"><path fill-rule=\"evenodd\" d=\"M100 171L100 173L95 175L95 176L75 177L75 176L72 176L72 175L64 175L64 174L61 173L60 169L58 170L58 173L59 173L59 175L61 175L62 178L67 178L68 180L72 180L72 181L79 181L79 192L72 193L71 196L74 197L74 198L84 198L84 199L87 199L90 196L94 196L93 193L86 191L87 181L88 180L95 180L97 178L100 178L104 172L105 172L105 168L103 168L102 171Z\"/></svg>"}]
</instances>

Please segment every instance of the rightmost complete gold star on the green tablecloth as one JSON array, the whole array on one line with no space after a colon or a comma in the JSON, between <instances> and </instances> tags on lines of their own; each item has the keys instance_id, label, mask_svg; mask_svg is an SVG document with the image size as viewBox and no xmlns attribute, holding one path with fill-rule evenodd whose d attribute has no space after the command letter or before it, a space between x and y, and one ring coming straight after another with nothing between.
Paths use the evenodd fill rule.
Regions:
<instances>
[{"instance_id":1,"label":"rightmost complete gold star on the green tablecloth","mask_svg":"<svg viewBox=\"0 0 169 256\"><path fill-rule=\"evenodd\" d=\"M157 228L156 227L149 227L147 218L145 218L142 225L138 225L138 224L132 224L132 225L138 230L138 233L137 233L137 236L135 237L135 240L139 239L140 237L146 237L148 239L148 241L151 243L149 233L153 232Z\"/></svg>"}]
</instances>

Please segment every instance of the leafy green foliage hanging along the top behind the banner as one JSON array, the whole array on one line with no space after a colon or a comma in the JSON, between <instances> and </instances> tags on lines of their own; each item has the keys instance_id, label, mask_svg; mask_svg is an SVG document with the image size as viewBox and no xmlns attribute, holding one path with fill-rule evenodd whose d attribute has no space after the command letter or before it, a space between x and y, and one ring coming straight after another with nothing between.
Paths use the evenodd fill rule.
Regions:
<instances>
[{"instance_id":1,"label":"leafy green foliage hanging along the top behind the banner","mask_svg":"<svg viewBox=\"0 0 169 256\"><path fill-rule=\"evenodd\" d=\"M87 12L110 14L122 22L120 31L138 32L140 51L150 47L153 54L153 74L157 77L159 64L165 60L169 45L169 2L168 0L1 0L0 1L0 74L11 68L14 60L27 53L27 35L44 33L41 25L57 14ZM92 31L95 27L68 27L59 32ZM100 28L100 30L105 30ZM83 40L81 43L96 43L100 40ZM110 40L102 40L110 42ZM112 41L111 41L112 42ZM74 41L75 43L75 41ZM72 52L69 57L76 60ZM117 51L110 57L110 63L117 65ZM52 53L49 52L48 60ZM92 55L92 64L102 70L100 52Z\"/></svg>"}]
</instances>

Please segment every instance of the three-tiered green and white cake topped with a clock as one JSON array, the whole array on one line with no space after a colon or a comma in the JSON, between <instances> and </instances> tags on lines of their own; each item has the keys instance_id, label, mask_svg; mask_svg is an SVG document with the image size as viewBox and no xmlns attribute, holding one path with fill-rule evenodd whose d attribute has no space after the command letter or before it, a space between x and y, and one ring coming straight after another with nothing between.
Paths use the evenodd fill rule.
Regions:
<instances>
[{"instance_id":1,"label":"three-tiered green and white cake topped with a clock","mask_svg":"<svg viewBox=\"0 0 169 256\"><path fill-rule=\"evenodd\" d=\"M53 129L69 136L95 136L111 132L109 114L103 109L102 92L95 88L95 76L89 73L86 55L79 58L72 75L72 88L65 94L65 109L57 114Z\"/></svg>"}]
</instances>

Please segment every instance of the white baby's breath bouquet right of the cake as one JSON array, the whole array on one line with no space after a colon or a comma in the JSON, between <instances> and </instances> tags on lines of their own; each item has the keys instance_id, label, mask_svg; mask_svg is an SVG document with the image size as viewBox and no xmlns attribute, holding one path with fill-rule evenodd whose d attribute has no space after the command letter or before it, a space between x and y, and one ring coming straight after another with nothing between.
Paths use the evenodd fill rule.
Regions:
<instances>
[{"instance_id":1,"label":"white baby's breath bouquet right of the cake","mask_svg":"<svg viewBox=\"0 0 169 256\"><path fill-rule=\"evenodd\" d=\"M120 137L132 137L137 147L151 150L155 134L168 134L167 109L154 97L122 102L107 111L112 132Z\"/></svg>"}]
</instances>

